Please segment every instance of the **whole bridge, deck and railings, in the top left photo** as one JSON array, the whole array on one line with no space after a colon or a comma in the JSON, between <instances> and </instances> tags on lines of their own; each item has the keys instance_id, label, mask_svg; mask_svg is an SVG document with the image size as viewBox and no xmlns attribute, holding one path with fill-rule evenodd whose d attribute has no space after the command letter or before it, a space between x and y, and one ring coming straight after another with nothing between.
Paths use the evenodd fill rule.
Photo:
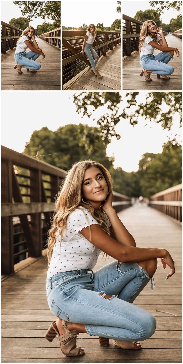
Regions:
<instances>
[{"instance_id":1,"label":"whole bridge, deck and railings, in the top left photo","mask_svg":"<svg viewBox=\"0 0 183 364\"><path fill-rule=\"evenodd\" d=\"M60 90L60 28L36 38L45 58L36 60L41 64L39 71L27 72L22 68L23 74L13 69L16 41L22 30L3 21L1 28L1 90Z\"/></svg>"}]
</instances>

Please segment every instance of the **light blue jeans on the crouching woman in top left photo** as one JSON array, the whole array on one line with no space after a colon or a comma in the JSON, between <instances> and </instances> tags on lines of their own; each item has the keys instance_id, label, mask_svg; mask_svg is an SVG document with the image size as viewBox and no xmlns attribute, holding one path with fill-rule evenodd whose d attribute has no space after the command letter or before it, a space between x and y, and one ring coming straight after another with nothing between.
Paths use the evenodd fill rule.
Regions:
<instances>
[{"instance_id":1,"label":"light blue jeans on the crouching woman in top left photo","mask_svg":"<svg viewBox=\"0 0 183 364\"><path fill-rule=\"evenodd\" d=\"M39 57L38 53L29 52L19 52L15 54L15 62L24 66L24 68L29 68L29 70L40 70L41 65L35 60ZM30 60L28 59L30 58Z\"/></svg>"}]
</instances>

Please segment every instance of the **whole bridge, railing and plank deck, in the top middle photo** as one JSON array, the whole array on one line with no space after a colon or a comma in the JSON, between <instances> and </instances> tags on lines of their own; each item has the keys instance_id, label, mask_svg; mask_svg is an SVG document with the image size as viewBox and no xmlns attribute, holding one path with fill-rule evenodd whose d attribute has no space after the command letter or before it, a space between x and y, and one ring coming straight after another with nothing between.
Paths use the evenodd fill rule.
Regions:
<instances>
[{"instance_id":1,"label":"whole bridge, railing and plank deck, in the top middle photo","mask_svg":"<svg viewBox=\"0 0 183 364\"><path fill-rule=\"evenodd\" d=\"M81 54L85 31L62 31L63 90L121 90L121 33L98 31L93 48L99 56L98 71L91 72L87 57Z\"/></svg>"}]
</instances>

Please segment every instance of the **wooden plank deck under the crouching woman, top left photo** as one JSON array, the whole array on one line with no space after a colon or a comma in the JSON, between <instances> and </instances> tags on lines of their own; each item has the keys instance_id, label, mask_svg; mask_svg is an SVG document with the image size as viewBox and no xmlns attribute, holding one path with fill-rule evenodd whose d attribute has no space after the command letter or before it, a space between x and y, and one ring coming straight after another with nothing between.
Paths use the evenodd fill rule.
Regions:
<instances>
[{"instance_id":1,"label":"wooden plank deck under the crouching woman, top left photo","mask_svg":"<svg viewBox=\"0 0 183 364\"><path fill-rule=\"evenodd\" d=\"M37 58L41 63L37 72L27 72L22 68L23 74L13 70L15 66L15 50L1 56L1 90L60 90L60 49L36 38L37 44L45 54L45 58Z\"/></svg>"}]
</instances>

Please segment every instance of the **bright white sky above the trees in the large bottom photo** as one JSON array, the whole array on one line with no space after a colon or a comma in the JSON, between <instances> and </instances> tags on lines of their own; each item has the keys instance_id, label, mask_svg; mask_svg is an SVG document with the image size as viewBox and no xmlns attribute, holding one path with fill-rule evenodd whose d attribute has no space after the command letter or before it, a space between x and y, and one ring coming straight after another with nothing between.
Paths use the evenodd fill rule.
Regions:
<instances>
[{"instance_id":1,"label":"bright white sky above the trees in the large bottom photo","mask_svg":"<svg viewBox=\"0 0 183 364\"><path fill-rule=\"evenodd\" d=\"M25 143L31 138L34 130L40 130L43 126L47 126L49 130L55 131L60 126L66 124L88 124L96 126L95 119L100 118L106 111L106 106L98 108L92 112L92 117L84 116L81 118L76 113L76 106L73 103L73 93L64 91L61 93L53 91L45 92L21 92L16 91L16 104L21 105L21 113L18 110L13 112L13 119L9 115L7 118L7 110L9 109L10 94L12 91L2 92L2 142L1 144L21 153L24 150ZM123 92L122 92L123 94ZM145 92L140 92L138 96L143 100ZM15 95L15 93L14 93ZM45 96L46 95L46 96ZM45 97L49 100L54 95L55 105L50 107L49 102L45 102ZM28 107L34 110L33 114L28 111ZM120 110L124 108L121 103ZM59 116L58 116L59 115ZM168 135L171 138L175 134L180 135L179 119L180 115L175 113L172 132ZM94 121L93 121L94 119ZM147 125L146 125L147 124ZM146 125L146 126L145 126ZM138 125L131 126L127 119L122 120L116 126L116 132L121 135L121 139L117 141L113 137L112 142L107 147L107 155L114 153L114 167L122 167L127 172L137 171L139 160L144 153L162 153L162 145L168 140L167 130L163 130L160 124L145 121L139 117ZM178 138L180 141L180 138Z\"/></svg>"}]
</instances>

